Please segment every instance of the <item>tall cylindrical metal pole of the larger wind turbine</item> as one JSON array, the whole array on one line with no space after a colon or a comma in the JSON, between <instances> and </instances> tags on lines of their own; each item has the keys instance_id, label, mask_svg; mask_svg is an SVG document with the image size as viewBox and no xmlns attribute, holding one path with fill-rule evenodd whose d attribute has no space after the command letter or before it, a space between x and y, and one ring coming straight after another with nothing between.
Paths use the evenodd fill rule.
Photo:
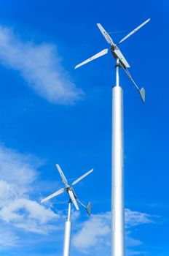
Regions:
<instances>
[{"instance_id":1,"label":"tall cylindrical metal pole of the larger wind turbine","mask_svg":"<svg viewBox=\"0 0 169 256\"><path fill-rule=\"evenodd\" d=\"M112 89L112 159L111 159L111 256L125 255L124 184L123 184L123 94L117 85Z\"/></svg>"}]
</instances>

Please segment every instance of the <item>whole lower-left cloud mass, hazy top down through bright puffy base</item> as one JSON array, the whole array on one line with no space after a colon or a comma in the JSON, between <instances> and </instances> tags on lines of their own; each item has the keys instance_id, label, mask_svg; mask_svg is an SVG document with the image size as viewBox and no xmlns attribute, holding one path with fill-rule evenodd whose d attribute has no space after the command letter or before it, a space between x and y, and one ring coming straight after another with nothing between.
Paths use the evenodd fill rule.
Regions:
<instances>
[{"instance_id":1,"label":"whole lower-left cloud mass, hazy top down through bright puffy base","mask_svg":"<svg viewBox=\"0 0 169 256\"><path fill-rule=\"evenodd\" d=\"M30 154L0 146L0 220L3 225L41 234L55 230L51 222L58 221L60 215L29 198L41 165L42 161ZM13 238L14 235L12 241Z\"/></svg>"}]
</instances>

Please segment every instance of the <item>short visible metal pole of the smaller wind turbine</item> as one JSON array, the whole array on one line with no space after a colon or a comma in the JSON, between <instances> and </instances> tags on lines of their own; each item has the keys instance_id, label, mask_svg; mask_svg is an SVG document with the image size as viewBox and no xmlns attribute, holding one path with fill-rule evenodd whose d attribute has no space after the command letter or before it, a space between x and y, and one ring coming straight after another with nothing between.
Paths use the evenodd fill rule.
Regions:
<instances>
[{"instance_id":1,"label":"short visible metal pole of the smaller wind turbine","mask_svg":"<svg viewBox=\"0 0 169 256\"><path fill-rule=\"evenodd\" d=\"M70 244L71 244L71 202L68 203L68 219L65 222L63 256L70 255Z\"/></svg>"}]
</instances>

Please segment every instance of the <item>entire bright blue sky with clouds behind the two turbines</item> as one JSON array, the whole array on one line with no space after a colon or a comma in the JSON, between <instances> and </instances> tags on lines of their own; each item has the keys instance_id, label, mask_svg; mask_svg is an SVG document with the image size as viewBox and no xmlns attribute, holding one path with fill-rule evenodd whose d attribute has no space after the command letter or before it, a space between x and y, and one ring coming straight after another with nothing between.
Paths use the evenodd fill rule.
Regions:
<instances>
[{"instance_id":1,"label":"entire bright blue sky with clouds behind the two turbines","mask_svg":"<svg viewBox=\"0 0 169 256\"><path fill-rule=\"evenodd\" d=\"M55 164L77 178L93 215L73 210L71 255L109 255L114 59L76 64L120 45L143 105L121 71L125 106L126 255L168 256L168 1L0 1L0 252L62 255L66 195ZM121 32L118 32L121 31Z\"/></svg>"}]
</instances>

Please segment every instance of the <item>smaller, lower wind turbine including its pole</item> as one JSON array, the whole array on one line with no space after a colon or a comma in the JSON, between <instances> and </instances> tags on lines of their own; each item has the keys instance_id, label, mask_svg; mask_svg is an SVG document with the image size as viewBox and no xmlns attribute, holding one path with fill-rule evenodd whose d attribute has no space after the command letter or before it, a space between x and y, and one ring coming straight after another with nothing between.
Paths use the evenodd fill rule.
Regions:
<instances>
[{"instance_id":1,"label":"smaller, lower wind turbine including its pole","mask_svg":"<svg viewBox=\"0 0 169 256\"><path fill-rule=\"evenodd\" d=\"M57 195L62 194L63 192L67 192L69 196L68 200L68 217L65 223L65 236L64 236L64 245L63 245L63 256L69 256L70 255L70 242L71 242L71 203L74 204L76 210L79 210L79 206L77 203L79 203L81 206L83 206L87 214L91 214L91 207L92 204L88 203L88 206L84 206L84 204L77 198L73 186L77 184L79 181L82 181L83 178L85 178L87 175L93 172L92 170L89 170L87 173L84 173L84 175L77 178L71 185L68 185L68 181L66 179L66 176L64 175L63 171L61 170L60 166L57 164L56 167L58 168L58 172L62 178L63 183L65 184L65 187L62 189L59 189L52 195L49 195L48 197L45 197L41 203L44 203L45 201L51 199L52 197L55 197Z\"/></svg>"}]
</instances>

